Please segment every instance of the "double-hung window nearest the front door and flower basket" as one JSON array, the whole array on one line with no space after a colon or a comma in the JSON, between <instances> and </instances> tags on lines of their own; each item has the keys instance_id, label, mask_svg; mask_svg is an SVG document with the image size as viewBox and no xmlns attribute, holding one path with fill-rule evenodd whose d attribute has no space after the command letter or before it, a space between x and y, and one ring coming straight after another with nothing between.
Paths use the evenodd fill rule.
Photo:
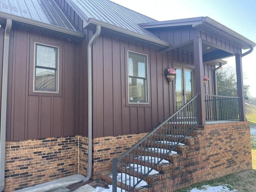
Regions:
<instances>
[{"instance_id":1,"label":"double-hung window nearest the front door and flower basket","mask_svg":"<svg viewBox=\"0 0 256 192\"><path fill-rule=\"evenodd\" d=\"M147 56L128 52L129 102L148 102Z\"/></svg>"}]
</instances>

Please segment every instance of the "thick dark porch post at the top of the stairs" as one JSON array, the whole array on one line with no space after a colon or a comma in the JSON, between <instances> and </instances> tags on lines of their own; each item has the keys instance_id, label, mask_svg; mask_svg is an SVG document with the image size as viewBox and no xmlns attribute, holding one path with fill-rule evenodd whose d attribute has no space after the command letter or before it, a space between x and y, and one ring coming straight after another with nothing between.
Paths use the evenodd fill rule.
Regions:
<instances>
[{"instance_id":1,"label":"thick dark porch post at the top of the stairs","mask_svg":"<svg viewBox=\"0 0 256 192\"><path fill-rule=\"evenodd\" d=\"M205 91L204 91L204 66L203 66L203 54L202 54L202 39L194 39L194 62L195 62L195 84L196 94L199 95L197 103L198 121L205 125Z\"/></svg>"}]
</instances>

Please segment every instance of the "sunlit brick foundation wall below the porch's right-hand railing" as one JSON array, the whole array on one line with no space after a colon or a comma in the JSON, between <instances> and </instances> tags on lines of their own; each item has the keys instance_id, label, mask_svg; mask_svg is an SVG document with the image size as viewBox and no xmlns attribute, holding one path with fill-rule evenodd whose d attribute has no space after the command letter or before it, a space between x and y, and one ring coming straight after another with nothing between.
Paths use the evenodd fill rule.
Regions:
<instances>
[{"instance_id":1,"label":"sunlit brick foundation wall below the porch's right-hand railing","mask_svg":"<svg viewBox=\"0 0 256 192\"><path fill-rule=\"evenodd\" d=\"M252 169L249 122L204 126L207 179Z\"/></svg>"}]
</instances>

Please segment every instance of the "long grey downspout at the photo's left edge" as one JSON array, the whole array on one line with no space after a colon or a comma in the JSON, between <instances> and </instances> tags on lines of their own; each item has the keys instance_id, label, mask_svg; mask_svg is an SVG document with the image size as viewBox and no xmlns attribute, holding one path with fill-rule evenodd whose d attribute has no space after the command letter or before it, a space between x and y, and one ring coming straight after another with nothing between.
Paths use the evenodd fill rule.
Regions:
<instances>
[{"instance_id":1,"label":"long grey downspout at the photo's left edge","mask_svg":"<svg viewBox=\"0 0 256 192\"><path fill-rule=\"evenodd\" d=\"M8 86L8 62L9 44L12 20L6 20L4 30L3 70L2 70L2 98L1 98L1 124L0 124L0 192L4 189L5 173L5 141L6 141L6 111L7 111L7 86Z\"/></svg>"}]
</instances>

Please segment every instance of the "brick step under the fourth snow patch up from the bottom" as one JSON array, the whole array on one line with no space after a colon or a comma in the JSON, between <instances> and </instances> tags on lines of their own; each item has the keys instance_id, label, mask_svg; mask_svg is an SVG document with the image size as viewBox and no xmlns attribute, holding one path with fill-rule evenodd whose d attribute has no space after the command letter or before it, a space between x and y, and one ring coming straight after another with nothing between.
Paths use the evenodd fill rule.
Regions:
<instances>
[{"instance_id":1,"label":"brick step under the fourth snow patch up from the bottom","mask_svg":"<svg viewBox=\"0 0 256 192\"><path fill-rule=\"evenodd\" d=\"M153 157L159 157L164 158L166 155L164 152L154 152L150 150L144 150L143 147L138 146L138 148L134 149L134 153L140 156L153 156ZM164 159L169 160L170 162L177 162L177 159L179 158L179 154L169 154Z\"/></svg>"}]
</instances>

